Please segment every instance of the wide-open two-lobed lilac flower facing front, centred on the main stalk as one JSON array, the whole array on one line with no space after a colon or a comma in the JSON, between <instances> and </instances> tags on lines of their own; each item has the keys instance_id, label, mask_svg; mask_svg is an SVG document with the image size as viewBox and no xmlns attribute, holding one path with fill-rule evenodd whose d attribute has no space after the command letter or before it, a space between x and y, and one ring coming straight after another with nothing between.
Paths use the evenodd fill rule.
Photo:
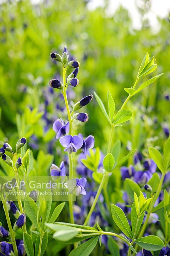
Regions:
<instances>
[{"instance_id":1,"label":"wide-open two-lobed lilac flower facing front, centred on the main stalk","mask_svg":"<svg viewBox=\"0 0 170 256\"><path fill-rule=\"evenodd\" d=\"M68 151L69 154L77 152L83 146L83 140L77 135L73 137L71 135L65 135L60 138L60 143L65 147L64 151Z\"/></svg>"}]
</instances>

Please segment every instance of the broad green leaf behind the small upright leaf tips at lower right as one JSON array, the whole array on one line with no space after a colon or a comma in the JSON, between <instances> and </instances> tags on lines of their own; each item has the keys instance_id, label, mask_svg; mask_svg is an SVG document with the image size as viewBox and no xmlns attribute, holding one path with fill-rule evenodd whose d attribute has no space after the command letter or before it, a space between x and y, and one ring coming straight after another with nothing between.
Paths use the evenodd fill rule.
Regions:
<instances>
[{"instance_id":1,"label":"broad green leaf behind the small upright leaf tips at lower right","mask_svg":"<svg viewBox=\"0 0 170 256\"><path fill-rule=\"evenodd\" d=\"M126 190L126 192L128 193L129 197L134 201L134 192L137 194L137 196L140 196L140 191L141 188L139 187L139 185L131 180L126 178L124 181L124 189Z\"/></svg>"}]
</instances>

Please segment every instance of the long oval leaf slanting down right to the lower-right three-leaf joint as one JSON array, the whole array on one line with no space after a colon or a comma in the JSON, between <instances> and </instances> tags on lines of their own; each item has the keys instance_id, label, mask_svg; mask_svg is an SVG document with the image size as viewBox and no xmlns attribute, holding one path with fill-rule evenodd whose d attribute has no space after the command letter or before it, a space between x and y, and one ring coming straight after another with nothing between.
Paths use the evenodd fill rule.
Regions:
<instances>
[{"instance_id":1,"label":"long oval leaf slanting down right to the lower-right three-leaf joint","mask_svg":"<svg viewBox=\"0 0 170 256\"><path fill-rule=\"evenodd\" d=\"M111 204L112 218L120 230L129 238L132 239L132 231L129 226L129 222L121 208L115 204Z\"/></svg>"}]
</instances>

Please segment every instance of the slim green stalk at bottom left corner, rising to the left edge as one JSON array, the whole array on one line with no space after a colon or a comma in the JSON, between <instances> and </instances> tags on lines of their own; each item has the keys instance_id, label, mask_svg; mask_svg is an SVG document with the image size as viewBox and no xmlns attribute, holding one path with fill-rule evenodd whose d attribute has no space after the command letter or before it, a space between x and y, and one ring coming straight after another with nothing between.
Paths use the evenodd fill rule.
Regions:
<instances>
[{"instance_id":1,"label":"slim green stalk at bottom left corner, rising to the left edge","mask_svg":"<svg viewBox=\"0 0 170 256\"><path fill-rule=\"evenodd\" d=\"M12 246L13 246L14 254L15 254L15 256L18 256L17 244L16 244L16 241L15 241L15 236L14 236L14 232L13 232L13 229L12 229L11 220L10 220L8 208L7 208L7 205L6 205L6 201L5 201L3 195L1 195L0 197L1 197L1 201L3 203L5 217L6 217L6 221L7 221L8 228L9 228L10 235L11 235L11 241L12 241Z\"/></svg>"}]
</instances>

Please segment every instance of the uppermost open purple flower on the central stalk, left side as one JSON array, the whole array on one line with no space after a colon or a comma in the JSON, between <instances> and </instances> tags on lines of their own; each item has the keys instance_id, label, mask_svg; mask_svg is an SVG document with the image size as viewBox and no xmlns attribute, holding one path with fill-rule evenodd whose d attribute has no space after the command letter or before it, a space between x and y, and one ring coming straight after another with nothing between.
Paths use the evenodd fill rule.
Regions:
<instances>
[{"instance_id":1,"label":"uppermost open purple flower on the central stalk, left side","mask_svg":"<svg viewBox=\"0 0 170 256\"><path fill-rule=\"evenodd\" d=\"M64 124L63 120L58 118L53 124L53 130L57 132L56 139L62 137L66 133L69 133L69 122Z\"/></svg>"}]
</instances>

